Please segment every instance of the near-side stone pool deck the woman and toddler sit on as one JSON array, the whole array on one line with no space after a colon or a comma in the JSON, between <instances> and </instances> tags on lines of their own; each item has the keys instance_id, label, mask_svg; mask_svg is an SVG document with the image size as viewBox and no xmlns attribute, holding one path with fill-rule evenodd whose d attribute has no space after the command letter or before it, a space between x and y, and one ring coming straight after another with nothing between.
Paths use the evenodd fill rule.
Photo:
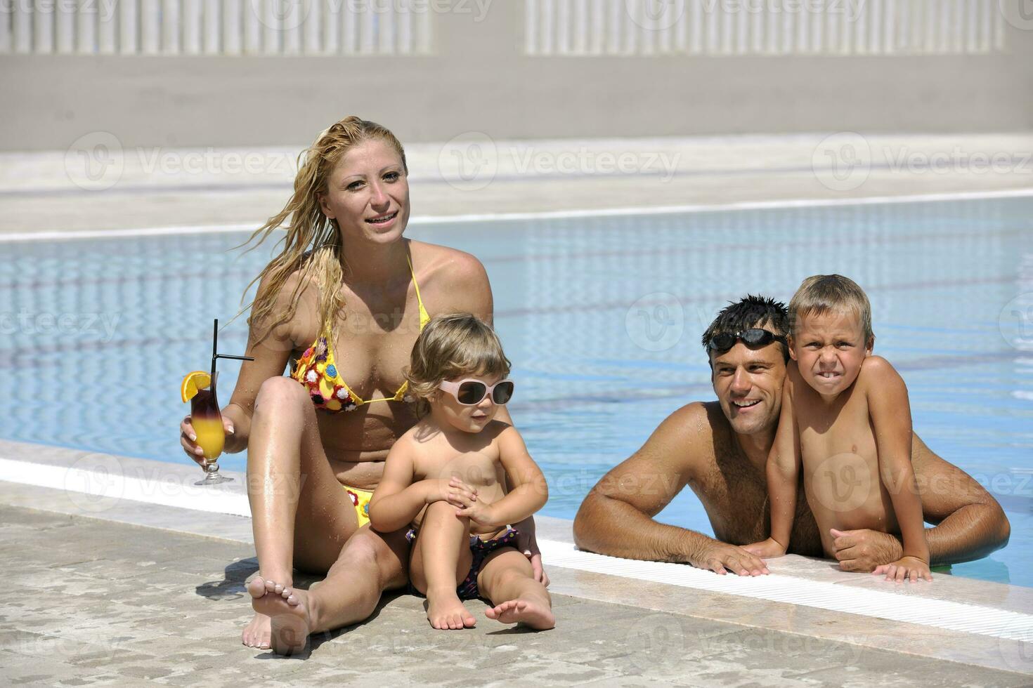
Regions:
<instances>
[{"instance_id":1,"label":"near-side stone pool deck the woman and toddler sit on","mask_svg":"<svg viewBox=\"0 0 1033 688\"><path fill-rule=\"evenodd\" d=\"M0 441L0 532L12 583L28 593L2 607L8 642L0 677L48 685L135 685L145 677L176 685L258 677L371 685L1033 684L1031 589L944 575L933 585L895 586L794 556L773 560L762 579L718 577L576 552L570 522L551 518L540 519L539 539L556 630L505 629L483 618L481 602L468 602L476 629L433 631L421 599L400 595L368 623L316 637L303 661L275 658L239 645L249 615L244 583L256 562L250 520L232 515L245 489L245 477L233 476L201 489L192 485L199 471L187 465ZM661 567L660 580L651 580L658 578L651 567ZM859 613L828 609L823 589ZM780 591L791 601L784 594L779 601ZM891 601L881 612L880 596ZM893 620L898 611L912 621Z\"/></svg>"}]
</instances>

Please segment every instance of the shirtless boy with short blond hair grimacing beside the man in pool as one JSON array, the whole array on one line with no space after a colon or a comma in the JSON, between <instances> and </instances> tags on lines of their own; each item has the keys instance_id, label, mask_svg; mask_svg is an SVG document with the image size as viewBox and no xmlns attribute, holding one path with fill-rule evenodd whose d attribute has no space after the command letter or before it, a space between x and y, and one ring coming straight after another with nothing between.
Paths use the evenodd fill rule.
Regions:
<instances>
[{"instance_id":1,"label":"shirtless boy with short blond hair grimacing beside the man in pool","mask_svg":"<svg viewBox=\"0 0 1033 688\"><path fill-rule=\"evenodd\" d=\"M801 466L826 556L833 530L900 534L904 554L875 574L932 581L921 502L911 467L907 388L873 356L871 305L852 280L808 277L789 302L789 363L768 459L771 537L746 549L778 557L789 546Z\"/></svg>"}]
</instances>

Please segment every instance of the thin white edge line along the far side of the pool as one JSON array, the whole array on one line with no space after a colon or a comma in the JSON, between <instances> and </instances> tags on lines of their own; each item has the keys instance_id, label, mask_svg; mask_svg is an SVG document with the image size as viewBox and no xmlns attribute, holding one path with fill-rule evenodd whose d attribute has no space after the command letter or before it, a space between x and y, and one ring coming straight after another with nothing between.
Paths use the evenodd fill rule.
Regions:
<instances>
[{"instance_id":1,"label":"thin white edge line along the far side of the pool","mask_svg":"<svg viewBox=\"0 0 1033 688\"><path fill-rule=\"evenodd\" d=\"M911 194L903 196L869 196L865 198L787 199L774 201L744 201L716 204L657 205L647 207L617 207L575 210L540 210L535 212L489 212L453 216L416 216L409 224L446 225L477 222L515 222L533 220L569 220L577 218L615 218L627 216L683 215L692 212L724 212L729 210L768 210L808 207L840 207L849 205L884 205L897 203L928 203L936 201L991 200L1001 198L1027 198L1030 189L1004 189L950 194ZM260 223L234 223L228 225L182 225L171 227L144 227L99 230L50 230L40 232L0 233L0 243L15 241L63 241L74 239L118 238L123 236L167 236L176 234L224 234L254 231Z\"/></svg>"}]
</instances>

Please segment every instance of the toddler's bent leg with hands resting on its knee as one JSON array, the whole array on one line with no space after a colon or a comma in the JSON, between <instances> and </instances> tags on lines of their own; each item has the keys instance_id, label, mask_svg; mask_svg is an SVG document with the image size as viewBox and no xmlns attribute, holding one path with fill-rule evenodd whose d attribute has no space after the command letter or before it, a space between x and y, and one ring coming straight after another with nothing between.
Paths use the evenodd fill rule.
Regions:
<instances>
[{"instance_id":1,"label":"toddler's bent leg with hands resting on its knee","mask_svg":"<svg viewBox=\"0 0 1033 688\"><path fill-rule=\"evenodd\" d=\"M458 586L470 571L470 519L458 518L456 507L436 501L427 507L412 548L412 585L427 595L427 619L435 628L472 628L476 619L459 595Z\"/></svg>"}]
</instances>

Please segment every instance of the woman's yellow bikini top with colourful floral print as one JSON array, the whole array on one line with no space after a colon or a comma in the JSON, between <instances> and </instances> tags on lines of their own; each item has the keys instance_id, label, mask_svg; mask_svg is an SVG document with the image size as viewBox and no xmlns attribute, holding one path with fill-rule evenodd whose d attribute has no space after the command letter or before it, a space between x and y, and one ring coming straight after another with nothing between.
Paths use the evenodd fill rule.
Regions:
<instances>
[{"instance_id":1,"label":"woman's yellow bikini top with colourful floral print","mask_svg":"<svg viewBox=\"0 0 1033 688\"><path fill-rule=\"evenodd\" d=\"M427 315L424 307L424 300L419 297L419 285L416 283L416 273L412 269L412 260L409 262L409 273L412 274L412 286L416 289L416 301L419 303L419 331L430 322L431 317ZM374 401L409 401L406 398L406 391L409 383L404 382L395 392L395 396L385 396L379 399L363 399L351 391L348 383L341 379L341 373L337 369L334 358L334 348L331 346L331 328L323 327L322 334L312 342L312 346L305 350L302 357L294 361L293 372L290 376L300 382L309 390L309 396L316 408L328 412L354 411Z\"/></svg>"}]
</instances>

